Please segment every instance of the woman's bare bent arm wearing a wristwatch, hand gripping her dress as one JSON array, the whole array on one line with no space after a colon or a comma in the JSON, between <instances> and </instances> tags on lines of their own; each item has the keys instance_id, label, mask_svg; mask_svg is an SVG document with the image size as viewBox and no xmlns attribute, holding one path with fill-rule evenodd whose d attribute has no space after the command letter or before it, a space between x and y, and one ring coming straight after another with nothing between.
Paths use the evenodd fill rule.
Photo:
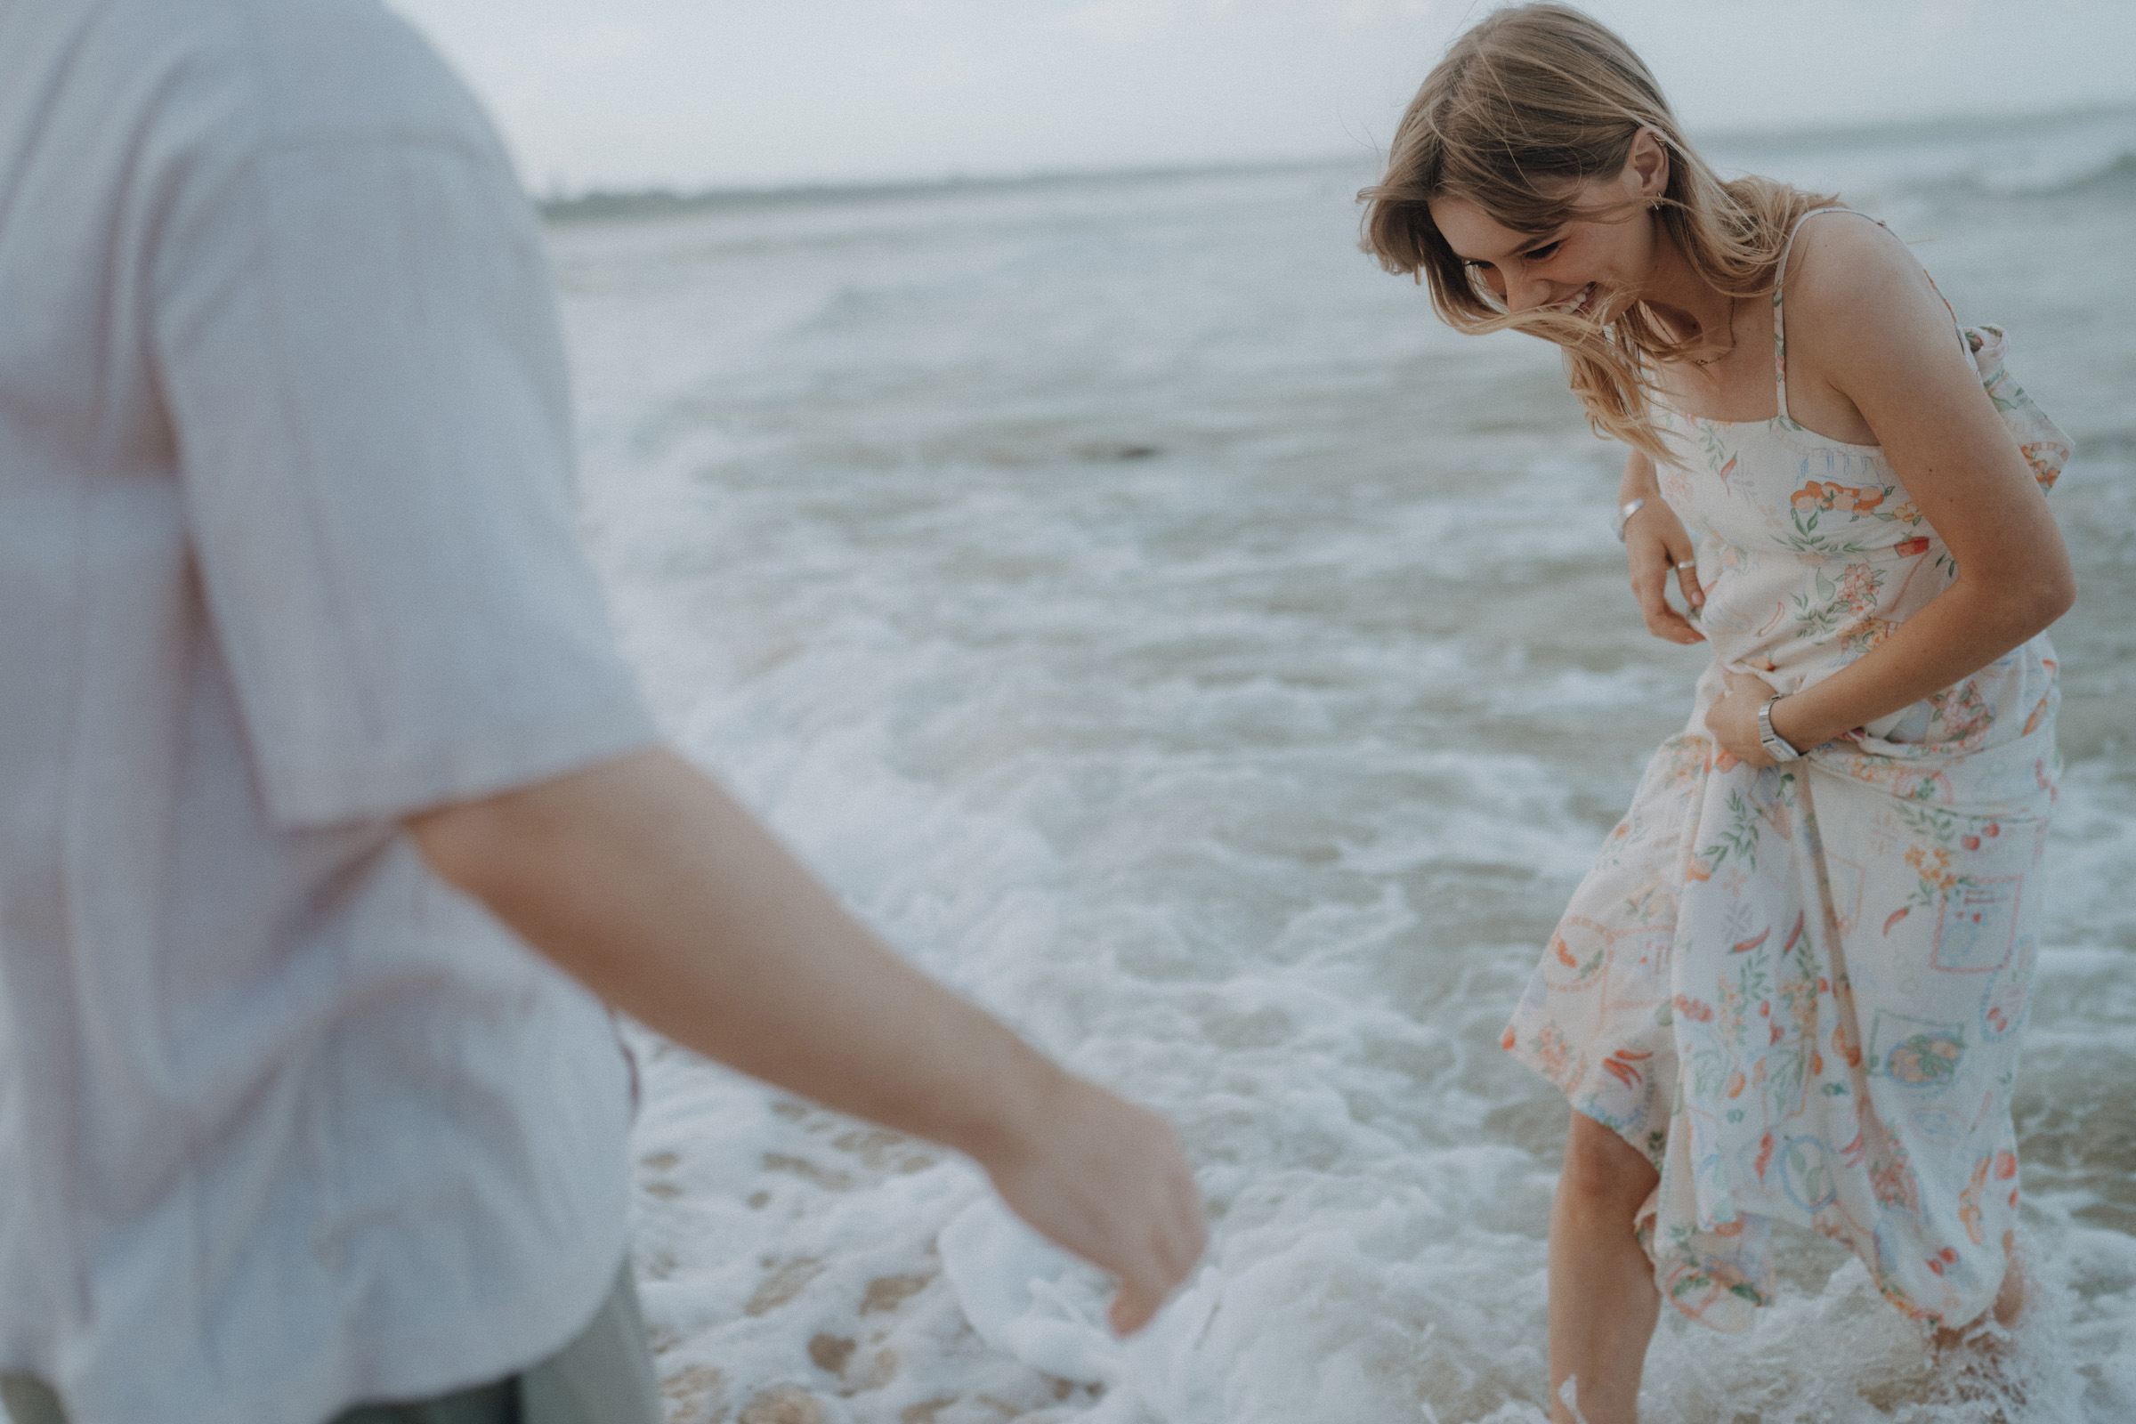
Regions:
<instances>
[{"instance_id":1,"label":"woman's bare bent arm wearing a wristwatch, hand gripping her dress","mask_svg":"<svg viewBox=\"0 0 2136 1424\"><path fill-rule=\"evenodd\" d=\"M2076 600L2061 532L1963 354L1950 312L1897 237L1828 218L1803 228L1788 273L1788 378L1852 404L1957 561L1957 583L1884 643L1773 707L1773 730L1809 749L1978 673ZM1828 401L1826 401L1828 404ZM1801 395L1790 397L1801 412ZM1730 675L1707 726L1764 766L1758 705Z\"/></svg>"}]
</instances>

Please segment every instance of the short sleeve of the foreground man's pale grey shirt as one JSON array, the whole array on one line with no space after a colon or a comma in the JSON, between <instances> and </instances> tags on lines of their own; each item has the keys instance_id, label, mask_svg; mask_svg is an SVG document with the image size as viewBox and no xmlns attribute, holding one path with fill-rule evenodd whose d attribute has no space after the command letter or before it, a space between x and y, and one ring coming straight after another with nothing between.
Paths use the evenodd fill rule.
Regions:
<instances>
[{"instance_id":1,"label":"short sleeve of the foreground man's pale grey shirt","mask_svg":"<svg viewBox=\"0 0 2136 1424\"><path fill-rule=\"evenodd\" d=\"M402 816L656 737L575 517L553 288L483 141L211 149L145 260L269 816Z\"/></svg>"}]
</instances>

